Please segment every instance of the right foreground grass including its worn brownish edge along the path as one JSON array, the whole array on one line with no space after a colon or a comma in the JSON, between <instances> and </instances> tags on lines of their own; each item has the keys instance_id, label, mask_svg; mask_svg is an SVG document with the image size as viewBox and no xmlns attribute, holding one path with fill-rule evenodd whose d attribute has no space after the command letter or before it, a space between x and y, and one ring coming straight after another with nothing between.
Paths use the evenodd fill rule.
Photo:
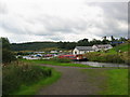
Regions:
<instances>
[{"instance_id":1,"label":"right foreground grass including its worn brownish edge along the path","mask_svg":"<svg viewBox=\"0 0 130 97\"><path fill-rule=\"evenodd\" d=\"M89 82L98 85L101 91L99 95L128 95L128 69L83 69L89 74ZM101 78L100 81L96 81Z\"/></svg>"}]
</instances>

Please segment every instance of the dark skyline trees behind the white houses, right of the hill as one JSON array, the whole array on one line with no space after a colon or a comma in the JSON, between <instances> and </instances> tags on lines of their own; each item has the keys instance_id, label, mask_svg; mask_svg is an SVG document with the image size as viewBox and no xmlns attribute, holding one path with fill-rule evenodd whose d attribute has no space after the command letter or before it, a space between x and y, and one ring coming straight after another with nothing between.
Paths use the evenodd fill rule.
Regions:
<instances>
[{"instance_id":1,"label":"dark skyline trees behind the white houses, right of the hill","mask_svg":"<svg viewBox=\"0 0 130 97\"><path fill-rule=\"evenodd\" d=\"M110 37L110 40L107 39L107 37L103 37L103 40L96 40L93 39L89 41L89 39L82 39L78 42L57 42L57 45L60 48L66 48L66 50L73 50L75 46L92 46L94 44L112 44L115 46L117 43L127 41L128 39L120 37L119 39L115 39L113 36ZM114 43L115 42L115 43Z\"/></svg>"}]
</instances>

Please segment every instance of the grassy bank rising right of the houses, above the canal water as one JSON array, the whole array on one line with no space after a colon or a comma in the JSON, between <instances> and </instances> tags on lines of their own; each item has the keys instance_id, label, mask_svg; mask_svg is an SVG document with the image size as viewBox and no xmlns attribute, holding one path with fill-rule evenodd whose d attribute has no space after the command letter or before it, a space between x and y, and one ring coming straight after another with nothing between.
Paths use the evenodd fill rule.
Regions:
<instances>
[{"instance_id":1,"label":"grassy bank rising right of the houses, above the canal water","mask_svg":"<svg viewBox=\"0 0 130 97\"><path fill-rule=\"evenodd\" d=\"M100 61L100 63L117 63L117 64L128 64L130 63L130 43L126 42L119 44L107 52L91 52L87 53L86 57L89 61Z\"/></svg>"}]
</instances>

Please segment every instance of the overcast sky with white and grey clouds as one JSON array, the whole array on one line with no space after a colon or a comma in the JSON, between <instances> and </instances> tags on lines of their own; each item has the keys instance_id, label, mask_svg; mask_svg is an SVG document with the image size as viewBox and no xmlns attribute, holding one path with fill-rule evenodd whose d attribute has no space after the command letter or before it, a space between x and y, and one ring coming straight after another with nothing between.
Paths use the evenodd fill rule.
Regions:
<instances>
[{"instance_id":1,"label":"overcast sky with white and grey clouds","mask_svg":"<svg viewBox=\"0 0 130 97\"><path fill-rule=\"evenodd\" d=\"M0 0L0 37L11 43L128 37L128 2Z\"/></svg>"}]
</instances>

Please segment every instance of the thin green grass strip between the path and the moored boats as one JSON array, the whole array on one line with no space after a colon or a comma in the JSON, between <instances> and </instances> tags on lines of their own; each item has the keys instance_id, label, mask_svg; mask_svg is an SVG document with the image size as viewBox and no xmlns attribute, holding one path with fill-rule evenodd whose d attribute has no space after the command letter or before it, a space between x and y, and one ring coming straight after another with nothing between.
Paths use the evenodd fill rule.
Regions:
<instances>
[{"instance_id":1,"label":"thin green grass strip between the path and the moored boats","mask_svg":"<svg viewBox=\"0 0 130 97\"><path fill-rule=\"evenodd\" d=\"M89 68L91 66L81 65L81 64L73 64L73 63L58 63L54 60L44 60L44 59L37 59L37 60L26 60L23 59L23 61L26 63L34 63L34 64L44 64L44 65L53 65L53 66L65 66L65 67L82 67L82 68Z\"/></svg>"}]
</instances>

